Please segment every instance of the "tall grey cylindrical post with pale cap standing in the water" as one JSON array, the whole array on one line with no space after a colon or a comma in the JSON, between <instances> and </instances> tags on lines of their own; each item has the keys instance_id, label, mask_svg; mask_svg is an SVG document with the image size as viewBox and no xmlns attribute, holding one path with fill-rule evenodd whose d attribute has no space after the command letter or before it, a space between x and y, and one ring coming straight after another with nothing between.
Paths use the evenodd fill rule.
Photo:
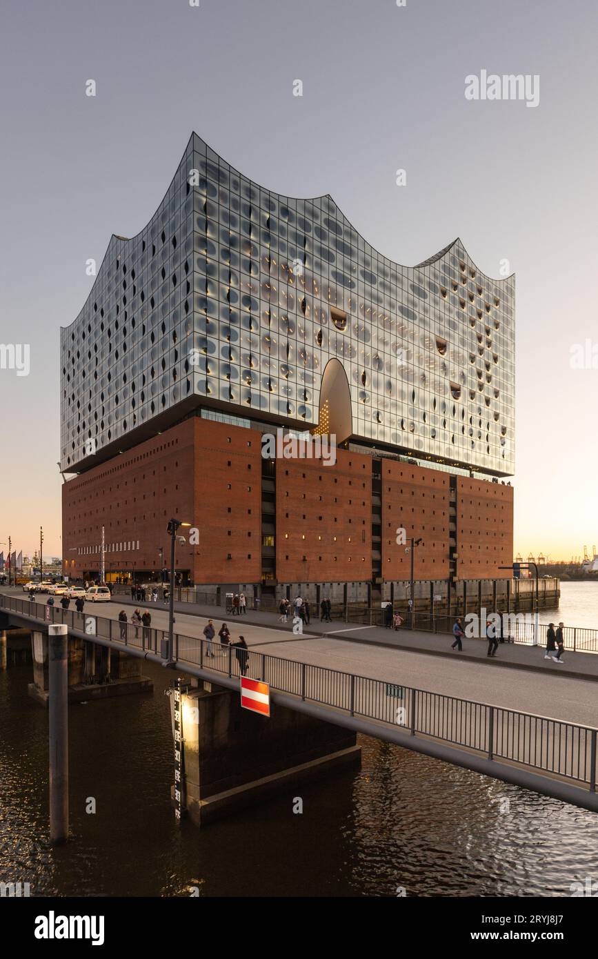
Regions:
<instances>
[{"instance_id":1,"label":"tall grey cylindrical post with pale cap standing in the water","mask_svg":"<svg viewBox=\"0 0 598 959\"><path fill-rule=\"evenodd\" d=\"M48 626L50 842L68 838L68 627Z\"/></svg>"}]
</instances>

